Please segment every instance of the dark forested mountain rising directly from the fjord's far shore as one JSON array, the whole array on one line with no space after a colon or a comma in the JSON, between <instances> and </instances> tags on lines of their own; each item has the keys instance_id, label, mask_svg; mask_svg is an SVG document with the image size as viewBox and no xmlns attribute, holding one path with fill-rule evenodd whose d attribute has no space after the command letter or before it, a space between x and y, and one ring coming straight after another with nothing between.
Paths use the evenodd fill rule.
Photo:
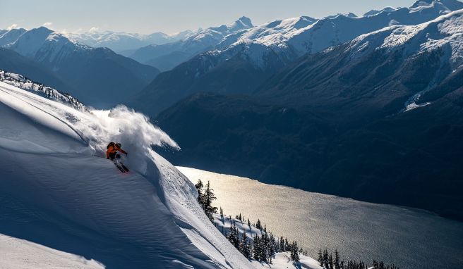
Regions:
<instances>
[{"instance_id":1,"label":"dark forested mountain rising directly from the fjord's far shore","mask_svg":"<svg viewBox=\"0 0 463 269\"><path fill-rule=\"evenodd\" d=\"M160 113L176 165L463 219L463 11L390 26L287 65L251 96ZM175 123L175 124L174 124Z\"/></svg>"}]
</instances>

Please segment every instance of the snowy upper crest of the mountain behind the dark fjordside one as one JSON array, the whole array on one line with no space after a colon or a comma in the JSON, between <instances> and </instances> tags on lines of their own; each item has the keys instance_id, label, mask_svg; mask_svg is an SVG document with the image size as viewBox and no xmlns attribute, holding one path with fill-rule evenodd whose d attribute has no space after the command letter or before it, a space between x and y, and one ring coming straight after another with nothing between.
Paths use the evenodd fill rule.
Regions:
<instances>
[{"instance_id":1,"label":"snowy upper crest of the mountain behind the dark fjordside one","mask_svg":"<svg viewBox=\"0 0 463 269\"><path fill-rule=\"evenodd\" d=\"M417 1L410 8L384 8L362 17L338 14L320 20L310 17L276 20L229 35L212 54L244 54L255 66L265 69L265 58L276 53L294 59L303 54L323 51L391 25L418 25L463 8L457 0ZM265 46L267 49L263 49ZM257 51L255 49L257 48ZM221 56L219 56L221 57ZM223 58L223 57L222 57Z\"/></svg>"}]
</instances>

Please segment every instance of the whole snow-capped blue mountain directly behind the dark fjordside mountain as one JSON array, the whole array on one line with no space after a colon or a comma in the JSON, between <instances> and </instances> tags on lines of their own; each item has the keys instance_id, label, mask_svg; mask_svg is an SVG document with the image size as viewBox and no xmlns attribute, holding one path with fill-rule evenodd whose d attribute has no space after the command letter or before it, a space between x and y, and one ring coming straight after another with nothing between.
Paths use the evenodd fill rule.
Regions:
<instances>
[{"instance_id":1,"label":"whole snow-capped blue mountain directly behind the dark fjordside mountain","mask_svg":"<svg viewBox=\"0 0 463 269\"><path fill-rule=\"evenodd\" d=\"M445 6L448 4L450 7ZM419 2L411 8L360 18L337 15L277 20L228 35L215 50L199 54L157 77L131 105L155 115L196 92L251 94L284 66L390 25L417 25L463 8L456 0Z\"/></svg>"}]
</instances>

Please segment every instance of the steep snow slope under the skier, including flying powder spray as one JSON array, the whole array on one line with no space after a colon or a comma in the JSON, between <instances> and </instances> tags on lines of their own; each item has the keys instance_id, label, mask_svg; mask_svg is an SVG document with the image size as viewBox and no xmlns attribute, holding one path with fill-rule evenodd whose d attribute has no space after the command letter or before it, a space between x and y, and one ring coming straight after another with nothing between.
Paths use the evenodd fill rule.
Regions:
<instances>
[{"instance_id":1,"label":"steep snow slope under the skier, including flying powder spray","mask_svg":"<svg viewBox=\"0 0 463 269\"><path fill-rule=\"evenodd\" d=\"M122 174L100 158L128 151ZM86 113L0 82L0 232L107 268L251 268L151 144L176 144L125 107Z\"/></svg>"}]
</instances>

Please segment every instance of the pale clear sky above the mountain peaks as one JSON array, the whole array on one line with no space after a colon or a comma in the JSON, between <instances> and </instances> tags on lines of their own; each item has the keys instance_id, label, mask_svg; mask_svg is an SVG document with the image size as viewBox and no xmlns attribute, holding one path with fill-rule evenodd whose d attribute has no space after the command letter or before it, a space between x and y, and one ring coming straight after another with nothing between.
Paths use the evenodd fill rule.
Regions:
<instances>
[{"instance_id":1,"label":"pale clear sky above the mountain peaks","mask_svg":"<svg viewBox=\"0 0 463 269\"><path fill-rule=\"evenodd\" d=\"M415 0L0 0L0 29L42 25L60 32L112 30L172 34L232 23L245 15L254 25L308 15L362 15Z\"/></svg>"}]
</instances>

